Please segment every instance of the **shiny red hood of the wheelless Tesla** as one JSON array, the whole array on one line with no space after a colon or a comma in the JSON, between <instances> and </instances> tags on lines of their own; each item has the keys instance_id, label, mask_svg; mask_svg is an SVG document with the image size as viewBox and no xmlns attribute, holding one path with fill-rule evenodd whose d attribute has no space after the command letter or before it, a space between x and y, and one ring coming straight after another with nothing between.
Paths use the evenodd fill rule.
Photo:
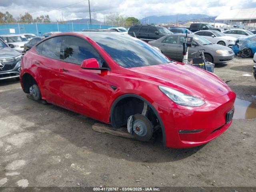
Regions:
<instances>
[{"instance_id":1,"label":"shiny red hood of the wheelless Tesla","mask_svg":"<svg viewBox=\"0 0 256 192\"><path fill-rule=\"evenodd\" d=\"M143 80L199 98L216 98L230 92L215 74L179 62L127 69L143 74Z\"/></svg>"}]
</instances>

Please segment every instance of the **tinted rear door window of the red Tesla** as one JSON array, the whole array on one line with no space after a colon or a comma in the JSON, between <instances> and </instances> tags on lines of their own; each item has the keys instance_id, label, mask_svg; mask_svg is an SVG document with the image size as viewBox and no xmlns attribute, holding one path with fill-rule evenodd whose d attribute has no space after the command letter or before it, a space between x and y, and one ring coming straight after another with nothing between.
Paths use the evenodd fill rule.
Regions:
<instances>
[{"instance_id":1,"label":"tinted rear door window of the red Tesla","mask_svg":"<svg viewBox=\"0 0 256 192\"><path fill-rule=\"evenodd\" d=\"M60 46L61 46L62 36L50 38L44 41L42 47L42 55L54 59L60 58Z\"/></svg>"}]
</instances>

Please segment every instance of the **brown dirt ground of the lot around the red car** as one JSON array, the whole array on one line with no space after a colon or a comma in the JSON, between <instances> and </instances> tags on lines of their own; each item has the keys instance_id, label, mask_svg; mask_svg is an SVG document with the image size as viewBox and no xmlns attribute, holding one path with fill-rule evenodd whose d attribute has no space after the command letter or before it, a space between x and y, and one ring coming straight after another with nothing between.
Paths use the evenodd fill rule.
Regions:
<instances>
[{"instance_id":1,"label":"brown dirt ground of the lot around the red car","mask_svg":"<svg viewBox=\"0 0 256 192\"><path fill-rule=\"evenodd\" d=\"M215 73L256 103L252 58ZM254 111L255 112L255 111ZM256 119L234 119L212 142L164 149L94 132L96 122L26 98L16 80L0 82L0 186L256 186Z\"/></svg>"}]
</instances>

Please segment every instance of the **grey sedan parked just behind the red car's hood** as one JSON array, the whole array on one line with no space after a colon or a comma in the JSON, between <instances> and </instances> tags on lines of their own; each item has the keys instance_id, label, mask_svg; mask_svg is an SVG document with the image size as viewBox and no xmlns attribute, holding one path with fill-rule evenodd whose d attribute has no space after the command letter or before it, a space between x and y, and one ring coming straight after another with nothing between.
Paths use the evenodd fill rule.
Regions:
<instances>
[{"instance_id":1,"label":"grey sedan parked just behind the red car's hood","mask_svg":"<svg viewBox=\"0 0 256 192\"><path fill-rule=\"evenodd\" d=\"M171 34L148 43L159 48L169 58L182 61L182 43L185 36L186 34ZM199 57L199 50L203 50L205 58L215 64L230 62L234 58L234 52L226 46L212 44L207 39L195 34L188 34L188 37L192 37L192 45L188 48L188 58Z\"/></svg>"}]
</instances>

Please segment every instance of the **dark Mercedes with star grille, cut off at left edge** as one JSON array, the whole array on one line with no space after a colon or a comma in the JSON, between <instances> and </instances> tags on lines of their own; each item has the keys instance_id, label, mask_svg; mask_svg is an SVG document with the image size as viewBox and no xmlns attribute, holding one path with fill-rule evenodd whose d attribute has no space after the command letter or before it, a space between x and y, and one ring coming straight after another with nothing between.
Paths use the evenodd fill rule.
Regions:
<instances>
[{"instance_id":1,"label":"dark Mercedes with star grille, cut off at left edge","mask_svg":"<svg viewBox=\"0 0 256 192\"><path fill-rule=\"evenodd\" d=\"M20 77L20 58L22 54L10 48L0 38L0 80Z\"/></svg>"}]
</instances>

